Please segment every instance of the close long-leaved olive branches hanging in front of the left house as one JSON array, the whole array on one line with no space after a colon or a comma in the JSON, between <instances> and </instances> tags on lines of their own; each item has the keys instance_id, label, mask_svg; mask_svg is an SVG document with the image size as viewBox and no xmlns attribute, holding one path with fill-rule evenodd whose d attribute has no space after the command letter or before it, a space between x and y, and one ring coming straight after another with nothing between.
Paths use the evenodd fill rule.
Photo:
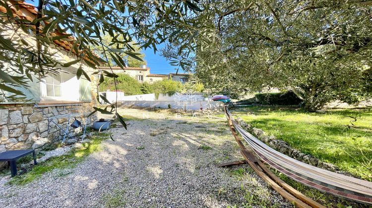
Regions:
<instances>
[{"instance_id":1,"label":"close long-leaved olive branches hanging in front of the left house","mask_svg":"<svg viewBox=\"0 0 372 208\"><path fill-rule=\"evenodd\" d=\"M9 1L10 2L10 1ZM131 43L135 40L139 49L151 48L157 51L158 44L174 40L183 40L184 48L195 46L195 35L207 31L193 17L201 12L194 0L162 1L117 1L117 0L38 0L30 6L23 1L0 1L0 75L2 99L14 99L5 96L5 91L14 95L24 95L11 86L25 86L30 79L40 79L48 73L56 73L62 67L85 62L96 68L109 64L110 55L116 65L124 68L123 55L142 61ZM13 4L13 5L12 5ZM27 5L36 8L34 18L26 18L14 13L14 8ZM15 31L15 35L4 35ZM103 37L111 40L105 45ZM22 37L13 40L14 37ZM34 39L36 46L30 46L26 37ZM121 39L122 37L123 39ZM79 60L62 63L53 57L47 49L53 41L71 43L70 53ZM103 48L103 57L93 53L92 46ZM14 74L9 75L9 72ZM111 72L103 72L113 77ZM77 75L90 76L80 67ZM102 83L104 79L100 80Z\"/></svg>"}]
</instances>

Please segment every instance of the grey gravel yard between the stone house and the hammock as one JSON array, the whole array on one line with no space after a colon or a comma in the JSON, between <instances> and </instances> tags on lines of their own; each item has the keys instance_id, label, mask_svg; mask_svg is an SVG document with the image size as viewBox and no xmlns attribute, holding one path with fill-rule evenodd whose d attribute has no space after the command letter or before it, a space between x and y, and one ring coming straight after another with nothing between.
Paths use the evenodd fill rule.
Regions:
<instances>
[{"instance_id":1,"label":"grey gravel yard between the stone house and the hammock","mask_svg":"<svg viewBox=\"0 0 372 208\"><path fill-rule=\"evenodd\" d=\"M226 120L119 112L139 119L128 121L127 131L113 129L116 141L104 141L102 151L76 167L47 172L24 186L5 185L9 176L1 176L0 208L292 207L248 165L215 166L242 159Z\"/></svg>"}]
</instances>

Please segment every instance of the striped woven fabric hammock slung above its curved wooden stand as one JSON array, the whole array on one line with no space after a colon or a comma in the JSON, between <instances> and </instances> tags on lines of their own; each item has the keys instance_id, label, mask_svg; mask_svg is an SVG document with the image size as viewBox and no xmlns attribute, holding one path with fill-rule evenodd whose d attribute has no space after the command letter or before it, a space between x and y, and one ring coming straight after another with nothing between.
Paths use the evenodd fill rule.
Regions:
<instances>
[{"instance_id":1,"label":"striped woven fabric hammock slung above its curved wooden stand","mask_svg":"<svg viewBox=\"0 0 372 208\"><path fill-rule=\"evenodd\" d=\"M226 112L253 151L273 168L319 191L372 205L371 182L324 170L281 154L244 130L228 109Z\"/></svg>"}]
</instances>

